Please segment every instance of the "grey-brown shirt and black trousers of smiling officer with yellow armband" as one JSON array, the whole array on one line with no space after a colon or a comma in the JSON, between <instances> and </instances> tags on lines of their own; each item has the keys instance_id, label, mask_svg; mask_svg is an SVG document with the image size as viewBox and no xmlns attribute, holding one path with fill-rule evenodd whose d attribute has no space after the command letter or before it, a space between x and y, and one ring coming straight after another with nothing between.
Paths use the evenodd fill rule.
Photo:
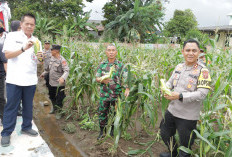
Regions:
<instances>
[{"instance_id":1,"label":"grey-brown shirt and black trousers of smiling officer with yellow armband","mask_svg":"<svg viewBox=\"0 0 232 157\"><path fill-rule=\"evenodd\" d=\"M176 66L166 83L174 92L183 95L182 100L172 100L169 103L165 118L160 124L161 137L168 147L172 139L174 152L177 152L178 147L174 138L176 130L179 133L181 146L189 148L193 144L195 134L191 135L191 133L196 129L201 104L208 94L210 82L209 71L203 64L197 63L189 67L181 63Z\"/></svg>"}]
</instances>

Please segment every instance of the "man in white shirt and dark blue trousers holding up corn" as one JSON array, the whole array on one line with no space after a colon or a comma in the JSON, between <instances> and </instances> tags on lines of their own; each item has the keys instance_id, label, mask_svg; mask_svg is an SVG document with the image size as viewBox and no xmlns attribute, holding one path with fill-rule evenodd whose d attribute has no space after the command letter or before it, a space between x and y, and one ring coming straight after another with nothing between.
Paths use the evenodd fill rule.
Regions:
<instances>
[{"instance_id":1,"label":"man in white shirt and dark blue trousers holding up corn","mask_svg":"<svg viewBox=\"0 0 232 157\"><path fill-rule=\"evenodd\" d=\"M42 52L34 52L34 43L38 39L32 33L36 24L35 16L25 14L21 18L21 31L8 34L3 52L8 59L6 90L7 103L3 114L3 130L1 132L1 145L10 145L10 135L15 129L17 112L20 101L23 106L22 134L37 136L38 133L32 129L33 98L36 90L37 62ZM40 43L41 50L41 43ZM36 56L37 53L37 56Z\"/></svg>"}]
</instances>

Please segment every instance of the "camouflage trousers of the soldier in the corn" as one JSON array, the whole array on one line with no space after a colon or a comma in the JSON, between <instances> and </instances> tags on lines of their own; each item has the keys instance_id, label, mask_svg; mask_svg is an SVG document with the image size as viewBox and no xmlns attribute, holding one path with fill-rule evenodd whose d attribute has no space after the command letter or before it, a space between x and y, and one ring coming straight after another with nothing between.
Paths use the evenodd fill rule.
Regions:
<instances>
[{"instance_id":1,"label":"camouflage trousers of the soldier in the corn","mask_svg":"<svg viewBox=\"0 0 232 157\"><path fill-rule=\"evenodd\" d=\"M100 99L100 106L98 109L100 127L105 127L107 125L108 115L111 111L115 114L115 101L104 101Z\"/></svg>"}]
</instances>

